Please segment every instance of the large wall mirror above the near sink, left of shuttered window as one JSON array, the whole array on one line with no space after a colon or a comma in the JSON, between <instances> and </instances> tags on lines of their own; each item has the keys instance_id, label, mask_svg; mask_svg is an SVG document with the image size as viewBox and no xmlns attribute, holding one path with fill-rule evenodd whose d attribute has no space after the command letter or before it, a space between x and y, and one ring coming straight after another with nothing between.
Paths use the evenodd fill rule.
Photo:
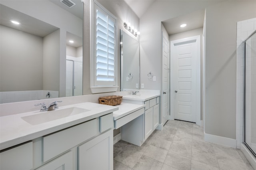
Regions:
<instances>
[{"instance_id":1,"label":"large wall mirror above the near sink, left of shuttered window","mask_svg":"<svg viewBox=\"0 0 256 170\"><path fill-rule=\"evenodd\" d=\"M83 4L72 2L0 1L0 103L82 95Z\"/></svg>"}]
</instances>

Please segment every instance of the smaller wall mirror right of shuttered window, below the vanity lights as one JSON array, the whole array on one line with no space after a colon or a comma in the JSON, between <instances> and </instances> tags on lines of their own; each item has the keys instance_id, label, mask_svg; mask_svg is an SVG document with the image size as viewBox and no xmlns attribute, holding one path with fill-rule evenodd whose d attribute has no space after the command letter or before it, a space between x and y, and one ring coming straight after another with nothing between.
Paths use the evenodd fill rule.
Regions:
<instances>
[{"instance_id":1,"label":"smaller wall mirror right of shuttered window, below the vanity lights","mask_svg":"<svg viewBox=\"0 0 256 170\"><path fill-rule=\"evenodd\" d=\"M139 42L120 30L121 91L140 89Z\"/></svg>"}]
</instances>

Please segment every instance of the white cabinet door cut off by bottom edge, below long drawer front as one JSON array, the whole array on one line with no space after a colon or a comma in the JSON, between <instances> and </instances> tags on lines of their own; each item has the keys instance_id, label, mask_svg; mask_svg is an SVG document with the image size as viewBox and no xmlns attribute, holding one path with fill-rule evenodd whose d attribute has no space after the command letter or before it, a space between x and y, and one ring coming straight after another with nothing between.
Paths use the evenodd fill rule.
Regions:
<instances>
[{"instance_id":1,"label":"white cabinet door cut off by bottom edge, below long drawer front","mask_svg":"<svg viewBox=\"0 0 256 170\"><path fill-rule=\"evenodd\" d=\"M52 160L51 162L41 166L36 170L72 170L73 157L72 152L63 154L62 156Z\"/></svg>"}]
</instances>

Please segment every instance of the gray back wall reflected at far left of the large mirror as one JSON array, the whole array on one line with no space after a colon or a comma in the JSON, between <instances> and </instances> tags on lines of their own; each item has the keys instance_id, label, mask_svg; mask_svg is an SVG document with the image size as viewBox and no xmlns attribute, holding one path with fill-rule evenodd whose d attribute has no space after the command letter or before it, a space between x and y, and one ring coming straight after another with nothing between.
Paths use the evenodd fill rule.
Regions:
<instances>
[{"instance_id":1,"label":"gray back wall reflected at far left of the large mirror","mask_svg":"<svg viewBox=\"0 0 256 170\"><path fill-rule=\"evenodd\" d=\"M2 26L0 91L42 90L43 39Z\"/></svg>"}]
</instances>

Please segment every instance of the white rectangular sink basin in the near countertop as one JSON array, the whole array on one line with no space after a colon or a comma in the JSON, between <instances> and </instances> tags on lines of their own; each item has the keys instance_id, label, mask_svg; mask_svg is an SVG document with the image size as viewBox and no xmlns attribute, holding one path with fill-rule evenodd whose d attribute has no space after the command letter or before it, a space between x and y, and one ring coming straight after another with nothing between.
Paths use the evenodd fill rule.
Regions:
<instances>
[{"instance_id":1,"label":"white rectangular sink basin in the near countertop","mask_svg":"<svg viewBox=\"0 0 256 170\"><path fill-rule=\"evenodd\" d=\"M67 109L58 109L54 111L46 111L42 112L36 115L30 115L30 116L24 116L22 119L29 123L30 125L38 125L41 123L46 123L49 121L54 121L56 119L61 119L64 117L69 117L72 115L77 115L79 113L84 113L89 110L87 109L82 109L79 107L70 107Z\"/></svg>"}]
</instances>

